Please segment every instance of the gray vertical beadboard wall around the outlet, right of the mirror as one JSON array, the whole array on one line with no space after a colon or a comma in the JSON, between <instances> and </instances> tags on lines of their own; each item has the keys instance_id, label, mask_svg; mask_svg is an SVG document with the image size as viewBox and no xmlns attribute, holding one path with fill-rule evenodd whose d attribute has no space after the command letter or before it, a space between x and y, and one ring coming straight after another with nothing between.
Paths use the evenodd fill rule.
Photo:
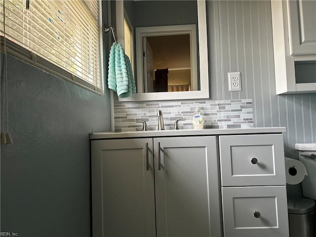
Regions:
<instances>
[{"instance_id":1,"label":"gray vertical beadboard wall around the outlet, right of the mirror","mask_svg":"<svg viewBox=\"0 0 316 237\"><path fill-rule=\"evenodd\" d=\"M297 158L295 143L316 142L316 94L276 95L271 2L207 1L207 23L211 99L252 99L254 126L285 126L285 156ZM240 92L228 72L241 72Z\"/></svg>"}]
</instances>

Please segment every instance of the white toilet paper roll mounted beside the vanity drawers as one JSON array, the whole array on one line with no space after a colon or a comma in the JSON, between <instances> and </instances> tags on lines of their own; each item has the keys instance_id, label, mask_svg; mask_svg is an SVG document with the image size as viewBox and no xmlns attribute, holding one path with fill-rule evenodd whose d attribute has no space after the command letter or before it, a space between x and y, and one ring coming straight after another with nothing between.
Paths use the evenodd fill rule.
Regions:
<instances>
[{"instance_id":1,"label":"white toilet paper roll mounted beside the vanity drawers","mask_svg":"<svg viewBox=\"0 0 316 237\"><path fill-rule=\"evenodd\" d=\"M307 170L301 161L285 157L285 179L287 184L299 184L303 181L305 175L307 175Z\"/></svg>"}]
</instances>

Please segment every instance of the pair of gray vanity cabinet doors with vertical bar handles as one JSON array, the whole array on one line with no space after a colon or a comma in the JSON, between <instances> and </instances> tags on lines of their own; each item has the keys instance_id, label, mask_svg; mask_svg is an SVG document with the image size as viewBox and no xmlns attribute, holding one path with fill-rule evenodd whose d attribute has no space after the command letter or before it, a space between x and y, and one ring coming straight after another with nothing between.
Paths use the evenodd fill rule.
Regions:
<instances>
[{"instance_id":1,"label":"pair of gray vanity cabinet doors with vertical bar handles","mask_svg":"<svg viewBox=\"0 0 316 237\"><path fill-rule=\"evenodd\" d=\"M91 141L93 237L220 237L217 147L216 136Z\"/></svg>"}]
</instances>

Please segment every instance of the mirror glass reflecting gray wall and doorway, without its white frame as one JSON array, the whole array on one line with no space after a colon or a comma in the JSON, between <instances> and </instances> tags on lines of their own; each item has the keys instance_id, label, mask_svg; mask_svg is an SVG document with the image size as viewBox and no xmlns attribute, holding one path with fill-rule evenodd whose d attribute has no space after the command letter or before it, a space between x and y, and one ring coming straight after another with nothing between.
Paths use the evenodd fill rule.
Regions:
<instances>
[{"instance_id":1,"label":"mirror glass reflecting gray wall and doorway, without its white frame","mask_svg":"<svg viewBox=\"0 0 316 237\"><path fill-rule=\"evenodd\" d=\"M197 1L123 2L136 31L138 92L197 90Z\"/></svg>"}]
</instances>

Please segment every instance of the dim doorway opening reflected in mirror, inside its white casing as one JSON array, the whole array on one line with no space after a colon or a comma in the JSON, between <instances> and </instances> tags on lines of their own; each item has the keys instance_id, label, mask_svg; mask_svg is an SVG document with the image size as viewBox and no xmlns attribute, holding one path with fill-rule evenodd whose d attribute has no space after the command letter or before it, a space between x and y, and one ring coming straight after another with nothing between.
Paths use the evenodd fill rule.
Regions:
<instances>
[{"instance_id":1,"label":"dim doorway opening reflected in mirror, inside its white casing","mask_svg":"<svg viewBox=\"0 0 316 237\"><path fill-rule=\"evenodd\" d=\"M145 42L145 92L190 91L190 35L144 37Z\"/></svg>"}]
</instances>

